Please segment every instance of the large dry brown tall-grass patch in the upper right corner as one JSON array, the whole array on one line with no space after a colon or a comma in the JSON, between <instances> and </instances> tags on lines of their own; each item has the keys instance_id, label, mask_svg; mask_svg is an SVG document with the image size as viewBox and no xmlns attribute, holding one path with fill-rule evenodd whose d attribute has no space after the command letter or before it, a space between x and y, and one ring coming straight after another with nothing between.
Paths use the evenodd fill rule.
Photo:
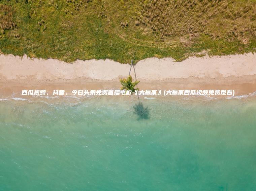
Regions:
<instances>
[{"instance_id":1,"label":"large dry brown tall-grass patch in the upper right corner","mask_svg":"<svg viewBox=\"0 0 256 191\"><path fill-rule=\"evenodd\" d=\"M206 34L212 38L256 35L256 2L251 0L142 0L137 22L164 36Z\"/></svg>"}]
</instances>

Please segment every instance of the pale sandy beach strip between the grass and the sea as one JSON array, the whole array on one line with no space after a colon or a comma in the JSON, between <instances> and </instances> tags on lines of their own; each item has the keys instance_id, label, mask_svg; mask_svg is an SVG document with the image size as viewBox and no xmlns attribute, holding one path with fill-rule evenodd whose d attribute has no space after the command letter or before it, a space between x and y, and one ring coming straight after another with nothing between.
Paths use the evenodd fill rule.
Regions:
<instances>
[{"instance_id":1,"label":"pale sandy beach strip between the grass and the sea","mask_svg":"<svg viewBox=\"0 0 256 191\"><path fill-rule=\"evenodd\" d=\"M22 89L115 89L130 65L113 60L22 58L0 54L0 94ZM140 89L233 89L236 95L256 91L256 54L172 58L147 58L135 65ZM132 69L131 75L134 77Z\"/></svg>"}]
</instances>

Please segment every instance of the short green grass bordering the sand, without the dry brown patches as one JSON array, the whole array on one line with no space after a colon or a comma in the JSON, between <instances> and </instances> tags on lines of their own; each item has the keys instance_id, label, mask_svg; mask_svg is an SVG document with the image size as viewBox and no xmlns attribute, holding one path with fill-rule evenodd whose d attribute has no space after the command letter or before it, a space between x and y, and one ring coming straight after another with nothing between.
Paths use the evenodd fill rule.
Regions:
<instances>
[{"instance_id":1,"label":"short green grass bordering the sand, without the dry brown patches","mask_svg":"<svg viewBox=\"0 0 256 191\"><path fill-rule=\"evenodd\" d=\"M131 59L136 63L154 56L183 60L190 55L200 55L203 50L209 55L255 52L255 36L247 44L241 44L238 39L214 39L204 34L192 39L189 35L161 38L149 26L134 24L142 9L137 0L82 2L79 10L75 10L77 3L66 4L66 0L56 0L53 4L51 0L28 0L28 3L0 0L0 4L13 7L12 19L17 25L0 34L1 52L66 62L108 58L121 63L129 63ZM101 17L100 12L107 17ZM127 21L128 27L120 27L122 21Z\"/></svg>"}]
</instances>

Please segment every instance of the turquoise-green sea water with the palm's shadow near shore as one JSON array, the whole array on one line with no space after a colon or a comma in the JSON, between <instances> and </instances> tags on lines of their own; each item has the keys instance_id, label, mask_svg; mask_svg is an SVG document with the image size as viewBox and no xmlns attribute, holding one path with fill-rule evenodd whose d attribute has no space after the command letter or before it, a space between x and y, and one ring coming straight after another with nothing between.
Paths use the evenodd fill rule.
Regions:
<instances>
[{"instance_id":1,"label":"turquoise-green sea water with the palm's shadow near shore","mask_svg":"<svg viewBox=\"0 0 256 191\"><path fill-rule=\"evenodd\" d=\"M256 101L2 99L0 190L254 191Z\"/></svg>"}]
</instances>

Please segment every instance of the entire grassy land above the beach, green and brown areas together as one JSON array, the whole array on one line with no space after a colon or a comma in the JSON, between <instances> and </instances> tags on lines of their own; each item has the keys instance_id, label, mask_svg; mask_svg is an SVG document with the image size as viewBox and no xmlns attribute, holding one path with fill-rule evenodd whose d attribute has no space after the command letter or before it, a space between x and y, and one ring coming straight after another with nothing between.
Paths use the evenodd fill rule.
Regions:
<instances>
[{"instance_id":1,"label":"entire grassy land above the beach, green and brown areas together","mask_svg":"<svg viewBox=\"0 0 256 191\"><path fill-rule=\"evenodd\" d=\"M255 0L0 0L0 50L122 63L255 52L255 12Z\"/></svg>"}]
</instances>

